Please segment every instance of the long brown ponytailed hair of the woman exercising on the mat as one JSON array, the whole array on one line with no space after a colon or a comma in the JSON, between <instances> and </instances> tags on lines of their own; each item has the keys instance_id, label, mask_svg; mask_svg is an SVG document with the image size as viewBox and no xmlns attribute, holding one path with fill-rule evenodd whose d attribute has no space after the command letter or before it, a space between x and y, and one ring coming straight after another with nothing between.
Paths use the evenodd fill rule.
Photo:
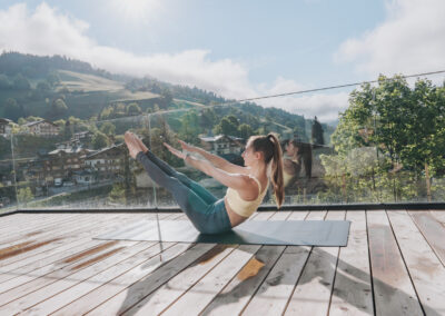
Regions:
<instances>
[{"instance_id":1,"label":"long brown ponytailed hair of the woman exercising on the mat","mask_svg":"<svg viewBox=\"0 0 445 316\"><path fill-rule=\"evenodd\" d=\"M285 187L283 179L283 152L281 145L274 134L266 136L253 136L251 146L254 151L261 151L266 165L271 162L271 184L274 187L275 197L277 199L277 207L280 208L285 199Z\"/></svg>"}]
</instances>

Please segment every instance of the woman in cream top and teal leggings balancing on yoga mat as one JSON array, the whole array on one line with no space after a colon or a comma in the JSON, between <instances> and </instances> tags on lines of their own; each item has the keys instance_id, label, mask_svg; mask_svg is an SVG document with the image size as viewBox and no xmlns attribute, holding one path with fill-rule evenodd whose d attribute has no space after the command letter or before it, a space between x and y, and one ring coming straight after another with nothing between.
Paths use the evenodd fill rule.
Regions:
<instances>
[{"instance_id":1,"label":"woman in cream top and teal leggings balancing on yoga mat","mask_svg":"<svg viewBox=\"0 0 445 316\"><path fill-rule=\"evenodd\" d=\"M179 207L200 233L218 234L230 230L254 214L267 191L269 165L271 165L271 182L278 208L283 204L281 147L271 134L250 137L241 155L245 167L230 164L181 140L179 142L185 151L197 152L206 160L197 159L164 144L171 154L184 159L187 165L227 186L227 194L222 199L217 199L199 184L157 158L134 134L127 131L125 140L130 156L142 164L151 179L172 194Z\"/></svg>"}]
</instances>

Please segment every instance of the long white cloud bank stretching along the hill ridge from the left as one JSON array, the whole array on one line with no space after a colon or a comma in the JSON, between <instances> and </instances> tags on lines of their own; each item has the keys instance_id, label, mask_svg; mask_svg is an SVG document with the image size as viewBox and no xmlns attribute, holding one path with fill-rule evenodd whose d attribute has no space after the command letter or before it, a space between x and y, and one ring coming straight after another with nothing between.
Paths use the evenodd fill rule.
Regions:
<instances>
[{"instance_id":1,"label":"long white cloud bank stretching along the hill ridge from the left","mask_svg":"<svg viewBox=\"0 0 445 316\"><path fill-rule=\"evenodd\" d=\"M210 60L208 50L136 56L98 45L86 34L89 26L44 2L29 12L26 4L0 11L0 50L40 56L62 55L115 73L152 76L171 83L196 86L226 98L250 98L307 89L278 77L271 85L254 86L246 66L230 59ZM347 93L283 97L260 101L291 112L333 121L347 103Z\"/></svg>"}]
</instances>

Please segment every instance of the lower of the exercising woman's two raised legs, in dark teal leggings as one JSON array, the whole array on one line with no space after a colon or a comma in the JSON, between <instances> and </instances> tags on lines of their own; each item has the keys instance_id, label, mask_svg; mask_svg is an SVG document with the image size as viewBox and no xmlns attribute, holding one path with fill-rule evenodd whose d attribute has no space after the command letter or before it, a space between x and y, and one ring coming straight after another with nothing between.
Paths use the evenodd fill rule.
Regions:
<instances>
[{"instance_id":1,"label":"lower of the exercising woman's two raised legs, in dark teal leggings","mask_svg":"<svg viewBox=\"0 0 445 316\"><path fill-rule=\"evenodd\" d=\"M136 156L136 159L142 164L144 168L150 175L151 179L154 179L159 186L165 187L169 192L171 192L179 207L199 231L216 233L222 229L230 229L230 226L227 227L227 221L224 221L226 217L228 218L227 211L225 209L219 208L219 211L225 211L226 214L218 213L219 217L224 220L219 220L219 224L214 223L214 209L216 203L207 204L200 196L188 188L178 178L167 175L142 151L140 151Z\"/></svg>"}]
</instances>

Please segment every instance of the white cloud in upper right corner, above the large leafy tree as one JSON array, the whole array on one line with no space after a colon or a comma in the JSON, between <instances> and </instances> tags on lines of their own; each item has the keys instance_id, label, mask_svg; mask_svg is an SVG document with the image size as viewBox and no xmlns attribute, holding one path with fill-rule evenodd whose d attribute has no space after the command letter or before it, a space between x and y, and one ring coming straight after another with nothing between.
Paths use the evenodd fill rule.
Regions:
<instances>
[{"instance_id":1,"label":"white cloud in upper right corner, above the large leafy tree","mask_svg":"<svg viewBox=\"0 0 445 316\"><path fill-rule=\"evenodd\" d=\"M445 1L388 0L386 11L383 23L343 42L335 59L372 78L445 69Z\"/></svg>"}]
</instances>

